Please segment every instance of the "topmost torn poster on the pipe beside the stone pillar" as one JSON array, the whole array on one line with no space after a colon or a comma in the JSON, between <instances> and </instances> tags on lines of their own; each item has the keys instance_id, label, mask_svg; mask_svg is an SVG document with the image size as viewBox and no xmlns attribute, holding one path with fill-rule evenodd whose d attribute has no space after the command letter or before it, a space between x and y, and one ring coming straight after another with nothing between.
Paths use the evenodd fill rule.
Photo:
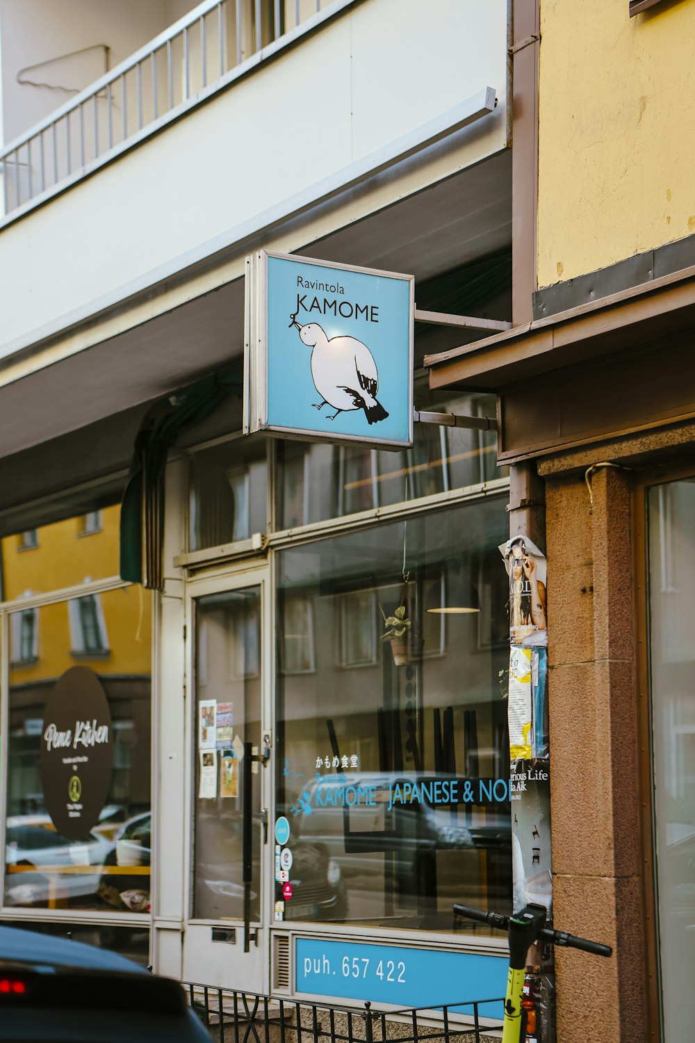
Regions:
<instances>
[{"instance_id":1,"label":"topmost torn poster on the pipe beside the stone pillar","mask_svg":"<svg viewBox=\"0 0 695 1043\"><path fill-rule=\"evenodd\" d=\"M510 642L524 648L548 644L545 555L527 536L499 548L510 577Z\"/></svg>"}]
</instances>

